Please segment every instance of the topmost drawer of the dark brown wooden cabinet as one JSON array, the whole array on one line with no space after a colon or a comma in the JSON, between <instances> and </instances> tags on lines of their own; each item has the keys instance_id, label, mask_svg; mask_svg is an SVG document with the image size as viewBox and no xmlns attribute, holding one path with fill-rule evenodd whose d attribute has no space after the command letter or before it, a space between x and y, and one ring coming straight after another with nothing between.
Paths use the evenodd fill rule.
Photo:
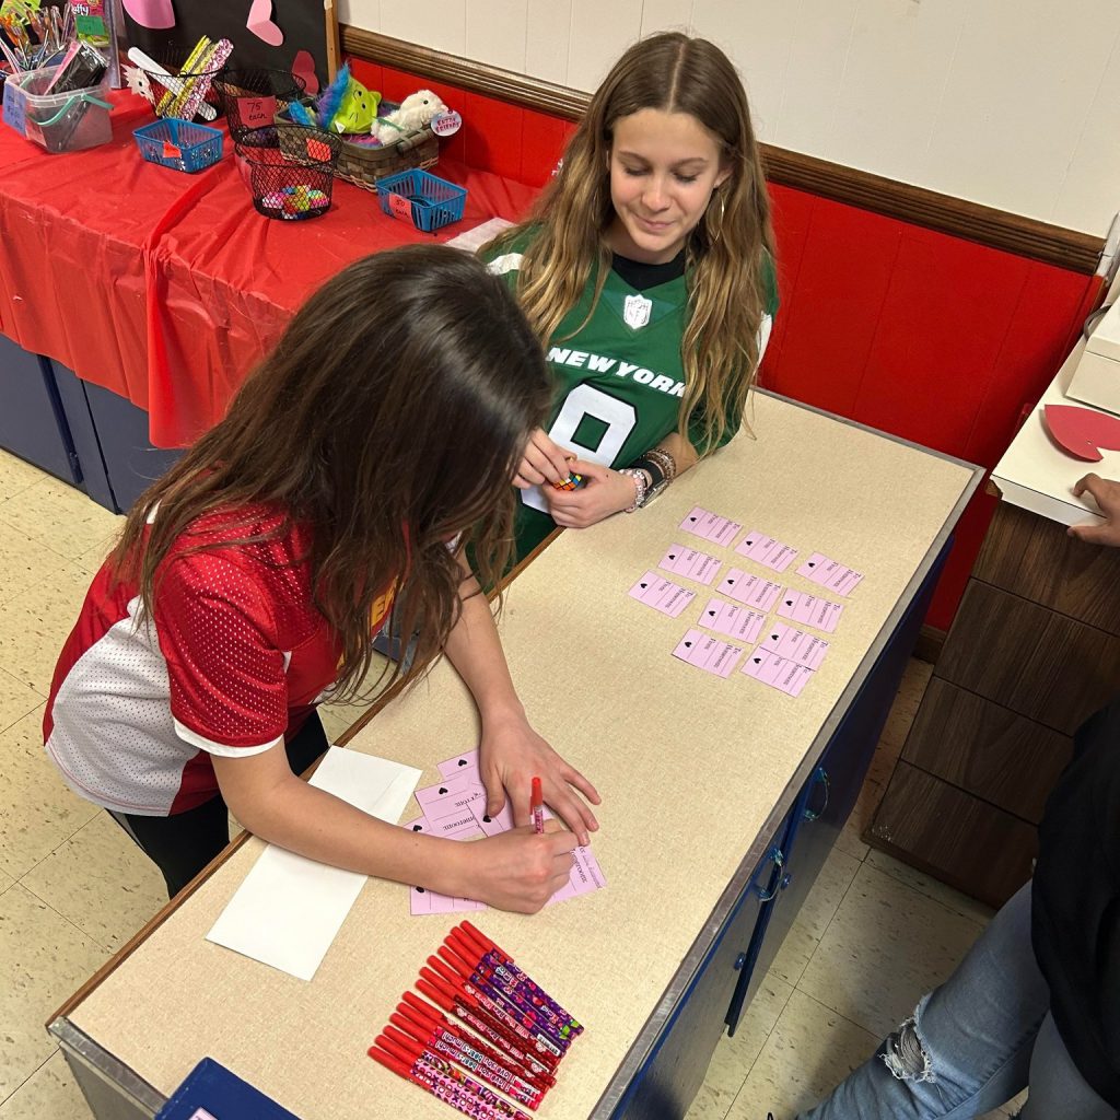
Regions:
<instances>
[{"instance_id":1,"label":"topmost drawer of the dark brown wooden cabinet","mask_svg":"<svg viewBox=\"0 0 1120 1120\"><path fill-rule=\"evenodd\" d=\"M1064 525L1000 503L973 575L1120 635L1120 550L1079 541Z\"/></svg>"}]
</instances>

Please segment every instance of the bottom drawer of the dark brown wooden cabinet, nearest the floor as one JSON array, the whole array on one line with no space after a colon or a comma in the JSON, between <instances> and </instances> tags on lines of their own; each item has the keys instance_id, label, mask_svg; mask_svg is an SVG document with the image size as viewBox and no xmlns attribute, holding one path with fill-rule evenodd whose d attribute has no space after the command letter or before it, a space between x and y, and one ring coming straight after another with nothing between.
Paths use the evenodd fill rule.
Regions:
<instances>
[{"instance_id":1,"label":"bottom drawer of the dark brown wooden cabinet, nearest the floor","mask_svg":"<svg viewBox=\"0 0 1120 1120\"><path fill-rule=\"evenodd\" d=\"M1034 825L899 762L867 839L999 907L1030 877Z\"/></svg>"}]
</instances>

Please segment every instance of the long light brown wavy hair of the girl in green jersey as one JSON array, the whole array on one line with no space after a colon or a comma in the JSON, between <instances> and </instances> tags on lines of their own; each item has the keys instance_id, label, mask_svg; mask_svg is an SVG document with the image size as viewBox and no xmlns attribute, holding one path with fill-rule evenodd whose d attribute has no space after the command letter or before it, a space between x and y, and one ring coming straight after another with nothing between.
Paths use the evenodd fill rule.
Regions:
<instances>
[{"instance_id":1,"label":"long light brown wavy hair of the girl in green jersey","mask_svg":"<svg viewBox=\"0 0 1120 1120\"><path fill-rule=\"evenodd\" d=\"M517 279L521 305L548 348L579 302L592 270L598 300L610 252L604 233L614 218L609 155L615 123L643 109L689 113L712 133L730 168L685 246L689 324L681 339L685 374L679 428L702 417L704 446L724 436L727 416L741 416L758 365L758 328L766 314L774 253L769 199L743 82L707 39L671 31L632 46L591 97L568 142L563 165L530 218L496 239L533 239ZM767 260L769 258L769 260ZM592 308L595 302L592 302Z\"/></svg>"}]
</instances>

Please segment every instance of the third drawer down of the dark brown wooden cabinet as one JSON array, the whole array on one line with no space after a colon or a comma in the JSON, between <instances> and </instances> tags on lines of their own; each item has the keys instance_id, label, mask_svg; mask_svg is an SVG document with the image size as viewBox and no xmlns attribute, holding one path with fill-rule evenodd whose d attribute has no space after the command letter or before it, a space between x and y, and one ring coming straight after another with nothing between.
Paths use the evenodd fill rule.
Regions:
<instances>
[{"instance_id":1,"label":"third drawer down of the dark brown wooden cabinet","mask_svg":"<svg viewBox=\"0 0 1120 1120\"><path fill-rule=\"evenodd\" d=\"M1037 824L1072 753L1067 735L934 676L902 757Z\"/></svg>"}]
</instances>

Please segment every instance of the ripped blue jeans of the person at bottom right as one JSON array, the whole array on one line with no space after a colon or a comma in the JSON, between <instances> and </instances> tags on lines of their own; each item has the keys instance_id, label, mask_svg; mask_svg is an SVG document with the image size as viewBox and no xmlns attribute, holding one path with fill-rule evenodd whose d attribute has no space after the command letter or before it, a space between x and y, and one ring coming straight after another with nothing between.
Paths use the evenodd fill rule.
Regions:
<instances>
[{"instance_id":1,"label":"ripped blue jeans of the person at bottom right","mask_svg":"<svg viewBox=\"0 0 1120 1120\"><path fill-rule=\"evenodd\" d=\"M1049 1014L1029 883L914 1017L799 1120L969 1120L1024 1089L1020 1120L1117 1116L1077 1072Z\"/></svg>"}]
</instances>

